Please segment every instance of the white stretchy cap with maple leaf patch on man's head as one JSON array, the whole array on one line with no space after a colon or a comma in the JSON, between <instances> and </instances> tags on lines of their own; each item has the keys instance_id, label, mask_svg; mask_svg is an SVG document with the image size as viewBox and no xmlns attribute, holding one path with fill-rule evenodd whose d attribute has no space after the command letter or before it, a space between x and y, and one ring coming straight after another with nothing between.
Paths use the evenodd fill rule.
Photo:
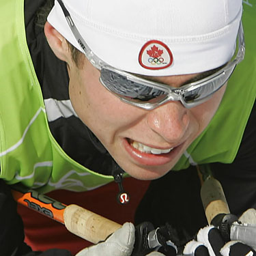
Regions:
<instances>
[{"instance_id":1,"label":"white stretchy cap with maple leaf patch on man's head","mask_svg":"<svg viewBox=\"0 0 256 256\"><path fill-rule=\"evenodd\" d=\"M63 0L91 50L109 65L150 76L193 74L231 59L242 0ZM59 3L48 22L81 51Z\"/></svg>"}]
</instances>

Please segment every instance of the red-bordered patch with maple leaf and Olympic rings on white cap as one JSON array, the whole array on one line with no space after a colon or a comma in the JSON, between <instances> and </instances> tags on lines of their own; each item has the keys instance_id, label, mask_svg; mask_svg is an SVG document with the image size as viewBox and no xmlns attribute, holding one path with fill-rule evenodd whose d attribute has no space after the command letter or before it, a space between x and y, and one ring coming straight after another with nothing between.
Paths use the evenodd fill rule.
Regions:
<instances>
[{"instance_id":1,"label":"red-bordered patch with maple leaf and Olympic rings on white cap","mask_svg":"<svg viewBox=\"0 0 256 256\"><path fill-rule=\"evenodd\" d=\"M161 41L150 40L145 43L139 53L139 63L149 70L168 68L173 63L173 55L169 47Z\"/></svg>"}]
</instances>

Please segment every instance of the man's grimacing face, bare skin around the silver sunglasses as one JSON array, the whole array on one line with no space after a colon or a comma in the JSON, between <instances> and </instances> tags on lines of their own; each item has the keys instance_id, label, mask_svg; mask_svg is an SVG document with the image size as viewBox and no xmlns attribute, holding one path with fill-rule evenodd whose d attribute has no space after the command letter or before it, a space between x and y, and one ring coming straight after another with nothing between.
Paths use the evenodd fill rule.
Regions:
<instances>
[{"instance_id":1,"label":"man's grimacing face, bare skin around the silver sunglasses","mask_svg":"<svg viewBox=\"0 0 256 256\"><path fill-rule=\"evenodd\" d=\"M88 61L83 68L70 63L68 71L70 100L77 115L119 166L141 180L154 180L173 168L212 119L226 87L192 109L173 101L147 111L122 102L105 89L99 81L100 72ZM180 87L196 75L162 76L154 80ZM161 151L171 148L169 153Z\"/></svg>"}]
</instances>

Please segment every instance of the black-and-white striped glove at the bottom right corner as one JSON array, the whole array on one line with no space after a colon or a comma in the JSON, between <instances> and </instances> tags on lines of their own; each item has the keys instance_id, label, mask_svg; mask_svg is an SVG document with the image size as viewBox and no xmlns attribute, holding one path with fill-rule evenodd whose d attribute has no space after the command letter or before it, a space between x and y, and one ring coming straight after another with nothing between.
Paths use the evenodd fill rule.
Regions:
<instances>
[{"instance_id":1,"label":"black-and-white striped glove at the bottom right corner","mask_svg":"<svg viewBox=\"0 0 256 256\"><path fill-rule=\"evenodd\" d=\"M255 225L256 211L254 209L247 210L238 221L246 225ZM233 240L225 243L221 231L213 225L200 229L197 239L186 244L183 254L190 256L256 256L255 250L244 242Z\"/></svg>"}]
</instances>

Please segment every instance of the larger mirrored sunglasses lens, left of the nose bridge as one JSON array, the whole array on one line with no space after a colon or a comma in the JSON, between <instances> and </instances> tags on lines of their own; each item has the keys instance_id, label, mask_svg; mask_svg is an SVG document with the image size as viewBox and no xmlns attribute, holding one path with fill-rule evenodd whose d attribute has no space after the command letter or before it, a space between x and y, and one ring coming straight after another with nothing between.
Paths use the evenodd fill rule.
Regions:
<instances>
[{"instance_id":1,"label":"larger mirrored sunglasses lens, left of the nose bridge","mask_svg":"<svg viewBox=\"0 0 256 256\"><path fill-rule=\"evenodd\" d=\"M132 102L158 101L168 94L166 91L130 81L126 76L104 68L100 71L100 81L109 91Z\"/></svg>"}]
</instances>

